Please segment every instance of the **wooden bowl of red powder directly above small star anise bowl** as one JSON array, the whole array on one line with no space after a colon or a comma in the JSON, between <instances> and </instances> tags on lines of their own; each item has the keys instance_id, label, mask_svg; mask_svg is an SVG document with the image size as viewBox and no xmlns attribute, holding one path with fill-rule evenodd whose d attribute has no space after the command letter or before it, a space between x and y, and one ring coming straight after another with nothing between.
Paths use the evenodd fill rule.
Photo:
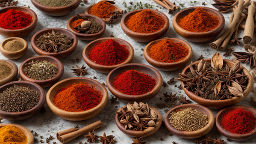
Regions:
<instances>
[{"instance_id":1,"label":"wooden bowl of red powder directly above small star anise bowl","mask_svg":"<svg viewBox=\"0 0 256 144\"><path fill-rule=\"evenodd\" d=\"M113 86L114 77L116 77L118 74L120 74L126 70L137 70L140 73L145 73L145 74L148 74L149 76L151 76L152 79L155 79L155 83L156 83L154 89L152 89L152 91L150 91L146 94L143 94L143 95L127 95L127 94L123 94L122 92L119 92ZM119 100L127 101L127 102L147 101L147 100L151 99L152 97L155 97L155 95L157 95L157 93L160 91L162 84L163 84L163 79L162 79L161 74L157 70L155 70L155 68L152 68L145 64L133 63L133 64L121 65L117 68L114 68L114 70L110 71L110 73L107 76L107 86L108 86L108 89L110 90L110 92L114 96L119 98Z\"/></svg>"}]
</instances>

